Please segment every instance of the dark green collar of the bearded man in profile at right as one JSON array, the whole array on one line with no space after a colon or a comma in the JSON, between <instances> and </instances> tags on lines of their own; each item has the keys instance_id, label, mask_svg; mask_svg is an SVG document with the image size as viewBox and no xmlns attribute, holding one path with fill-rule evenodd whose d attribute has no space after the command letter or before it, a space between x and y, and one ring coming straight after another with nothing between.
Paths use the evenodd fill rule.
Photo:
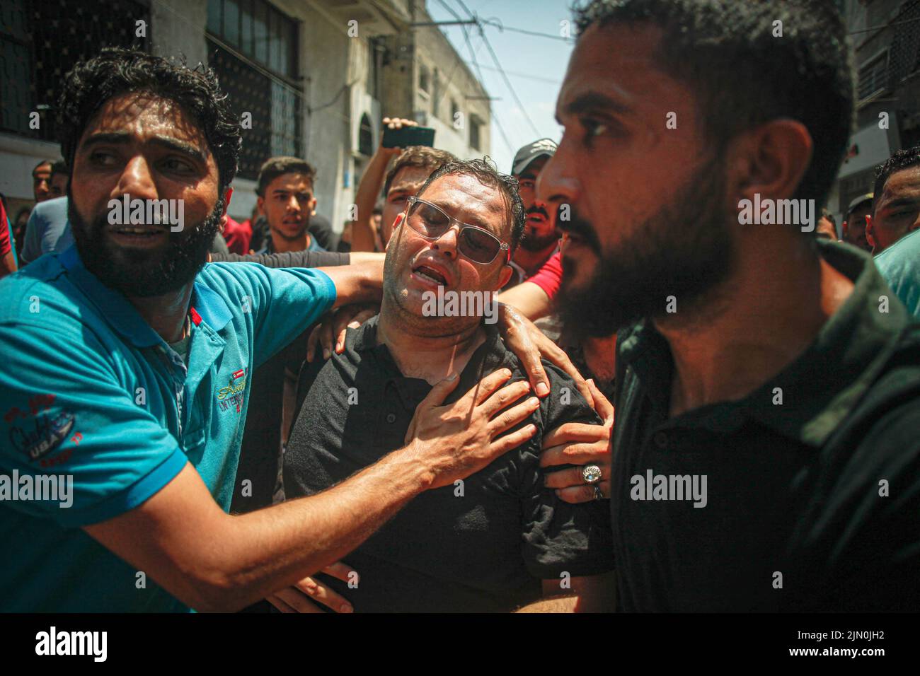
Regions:
<instances>
[{"instance_id":1,"label":"dark green collar of the bearded man in profile at right","mask_svg":"<svg viewBox=\"0 0 920 676\"><path fill-rule=\"evenodd\" d=\"M811 345L776 377L738 402L703 407L688 415L719 410L752 418L765 427L811 446L820 446L865 395L897 349L909 317L872 259L856 247L817 241L819 254L854 282L854 289L828 319ZM880 312L880 296L889 296ZM631 369L654 405L668 410L673 359L667 341L650 322L629 330L618 359ZM777 393L776 388L780 388ZM782 404L774 403L777 394ZM740 416L738 415L740 414Z\"/></svg>"}]
</instances>

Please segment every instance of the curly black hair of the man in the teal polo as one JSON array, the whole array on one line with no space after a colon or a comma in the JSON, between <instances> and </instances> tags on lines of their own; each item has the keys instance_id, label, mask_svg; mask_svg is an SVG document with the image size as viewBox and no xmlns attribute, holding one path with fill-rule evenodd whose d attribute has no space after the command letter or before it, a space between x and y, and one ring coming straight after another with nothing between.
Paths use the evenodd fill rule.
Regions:
<instances>
[{"instance_id":1,"label":"curly black hair of the man in the teal polo","mask_svg":"<svg viewBox=\"0 0 920 676\"><path fill-rule=\"evenodd\" d=\"M77 63L64 78L58 102L58 141L67 166L74 166L76 145L89 120L112 97L147 92L176 102L195 120L214 155L220 191L233 182L242 135L239 119L213 70L190 68L146 52L117 48Z\"/></svg>"}]
</instances>

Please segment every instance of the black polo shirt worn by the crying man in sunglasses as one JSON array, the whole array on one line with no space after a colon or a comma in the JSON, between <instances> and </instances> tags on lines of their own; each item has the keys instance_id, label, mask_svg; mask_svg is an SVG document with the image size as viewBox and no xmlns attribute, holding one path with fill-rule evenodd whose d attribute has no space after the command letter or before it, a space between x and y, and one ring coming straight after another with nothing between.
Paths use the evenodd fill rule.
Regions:
<instances>
[{"instance_id":1,"label":"black polo shirt worn by the crying man in sunglasses","mask_svg":"<svg viewBox=\"0 0 920 676\"><path fill-rule=\"evenodd\" d=\"M299 389L307 394L284 453L287 498L331 487L404 445L431 385L399 372L376 328L375 317L349 331L343 354L305 364ZM448 401L500 367L512 370L512 382L524 379L495 327L486 330ZM548 364L546 372L553 394L522 423L536 425L531 441L467 477L462 494L458 486L421 494L345 556L361 575L357 589L326 578L355 611L507 612L540 598L541 579L613 567L606 500L569 505L543 486L544 432L600 423L568 376Z\"/></svg>"}]
</instances>

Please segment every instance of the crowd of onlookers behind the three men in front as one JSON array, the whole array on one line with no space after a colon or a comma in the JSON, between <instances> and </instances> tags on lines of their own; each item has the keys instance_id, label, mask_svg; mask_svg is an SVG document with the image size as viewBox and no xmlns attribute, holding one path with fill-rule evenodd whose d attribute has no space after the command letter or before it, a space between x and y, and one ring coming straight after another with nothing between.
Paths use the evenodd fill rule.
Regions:
<instances>
[{"instance_id":1,"label":"crowd of onlookers behind the three men in front","mask_svg":"<svg viewBox=\"0 0 920 676\"><path fill-rule=\"evenodd\" d=\"M398 128L416 122L385 118L384 124ZM514 274L504 290L510 291L523 281L529 284L504 294L501 300L513 304L535 321L552 313L553 299L562 281L561 246L565 237L560 239L556 228L558 204L547 205L536 199L536 179L555 151L556 143L551 139L528 143L518 150L510 172L518 180L526 227L521 246L512 258ZM362 177L356 199L357 212L370 216L346 222L341 234L336 235L328 219L316 212L316 169L296 157L270 157L259 170L257 203L250 217L237 222L228 215L223 231L214 237L212 252L239 256L298 251L384 252L392 223L405 208L408 197L415 194L421 181L433 170L452 159L454 156L446 151L424 146L406 149L379 146ZM890 182L892 173L895 177ZM6 260L0 274L21 268L42 254L61 253L74 244L67 222L68 177L62 159L42 160L32 170L35 205L22 207L12 219L0 196L0 208L4 208L5 216L0 228L5 227L8 233L6 239L0 239L6 242L0 250L0 256ZM884 192L886 188L887 193ZM833 213L822 209L815 228L816 236L845 242L879 256L920 228L920 214L912 211L914 192L920 190L920 147L897 151L877 166L876 190L880 192L868 192L850 201L839 230ZM377 200L376 196L381 194L383 197ZM880 195L883 205L878 214L876 194ZM883 258L883 274L891 268L887 261L909 259L914 248L915 245L906 245ZM895 286L899 298L914 315L920 313L917 298L920 292L916 291L920 282L886 279ZM548 327L551 338L560 338L558 324L547 322L541 326ZM568 347L578 349L580 346L575 342ZM609 385L611 379L606 380Z\"/></svg>"}]
</instances>

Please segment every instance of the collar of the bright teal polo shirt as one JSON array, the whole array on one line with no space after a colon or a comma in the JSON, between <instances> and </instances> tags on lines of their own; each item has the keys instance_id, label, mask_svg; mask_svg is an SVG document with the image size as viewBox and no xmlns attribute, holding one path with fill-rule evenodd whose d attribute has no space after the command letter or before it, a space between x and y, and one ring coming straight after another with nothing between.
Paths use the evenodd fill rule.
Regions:
<instances>
[{"instance_id":1,"label":"collar of the bright teal polo shirt","mask_svg":"<svg viewBox=\"0 0 920 676\"><path fill-rule=\"evenodd\" d=\"M58 260L75 286L123 338L137 348L151 348L163 342L123 293L109 289L86 269L75 245L64 251ZM195 311L215 331L224 328L233 316L224 298L198 281L194 284L192 294L193 316ZM196 325L199 323L195 322Z\"/></svg>"}]
</instances>

